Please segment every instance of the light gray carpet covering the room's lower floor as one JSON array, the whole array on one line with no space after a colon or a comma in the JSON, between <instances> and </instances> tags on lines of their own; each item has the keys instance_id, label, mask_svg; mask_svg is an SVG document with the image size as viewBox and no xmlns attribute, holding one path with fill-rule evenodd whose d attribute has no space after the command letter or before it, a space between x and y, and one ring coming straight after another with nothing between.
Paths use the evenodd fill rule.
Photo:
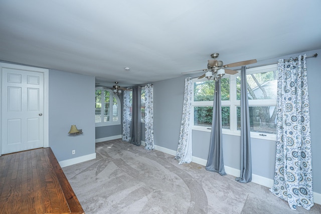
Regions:
<instances>
[{"instance_id":1,"label":"light gray carpet covering the room's lower floor","mask_svg":"<svg viewBox=\"0 0 321 214\"><path fill-rule=\"evenodd\" d=\"M94 160L63 168L89 213L321 213L291 210L267 187L119 140L96 143Z\"/></svg>"}]
</instances>

